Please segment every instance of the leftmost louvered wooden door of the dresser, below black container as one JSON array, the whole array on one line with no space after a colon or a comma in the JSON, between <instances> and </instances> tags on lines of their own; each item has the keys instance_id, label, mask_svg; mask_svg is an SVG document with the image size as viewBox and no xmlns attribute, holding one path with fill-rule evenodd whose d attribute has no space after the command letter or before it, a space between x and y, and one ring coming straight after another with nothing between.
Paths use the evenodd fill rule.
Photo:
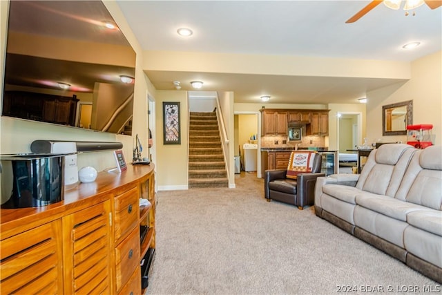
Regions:
<instances>
[{"instance_id":1,"label":"leftmost louvered wooden door of the dresser, below black container","mask_svg":"<svg viewBox=\"0 0 442 295\"><path fill-rule=\"evenodd\" d=\"M61 220L1 240L1 294L63 294L61 245Z\"/></svg>"}]
</instances>

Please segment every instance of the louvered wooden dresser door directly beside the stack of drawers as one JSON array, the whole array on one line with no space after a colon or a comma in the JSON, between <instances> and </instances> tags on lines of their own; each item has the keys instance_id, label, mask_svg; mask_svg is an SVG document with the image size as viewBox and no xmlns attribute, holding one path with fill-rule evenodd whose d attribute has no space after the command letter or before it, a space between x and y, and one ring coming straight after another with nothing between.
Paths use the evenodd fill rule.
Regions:
<instances>
[{"instance_id":1,"label":"louvered wooden dresser door directly beside the stack of drawers","mask_svg":"<svg viewBox=\"0 0 442 295\"><path fill-rule=\"evenodd\" d=\"M109 213L102 202L63 218L66 294L110 294Z\"/></svg>"}]
</instances>

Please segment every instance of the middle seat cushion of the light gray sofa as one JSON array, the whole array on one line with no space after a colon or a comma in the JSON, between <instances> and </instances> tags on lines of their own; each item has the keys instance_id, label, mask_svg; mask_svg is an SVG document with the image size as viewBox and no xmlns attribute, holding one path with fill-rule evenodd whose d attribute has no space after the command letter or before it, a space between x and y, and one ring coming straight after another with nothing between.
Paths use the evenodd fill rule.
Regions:
<instances>
[{"instance_id":1,"label":"middle seat cushion of the light gray sofa","mask_svg":"<svg viewBox=\"0 0 442 295\"><path fill-rule=\"evenodd\" d=\"M356 195L356 204L401 221L407 221L407 214L412 211L431 210L418 204L403 202L395 198L379 196L374 193L360 193Z\"/></svg>"}]
</instances>

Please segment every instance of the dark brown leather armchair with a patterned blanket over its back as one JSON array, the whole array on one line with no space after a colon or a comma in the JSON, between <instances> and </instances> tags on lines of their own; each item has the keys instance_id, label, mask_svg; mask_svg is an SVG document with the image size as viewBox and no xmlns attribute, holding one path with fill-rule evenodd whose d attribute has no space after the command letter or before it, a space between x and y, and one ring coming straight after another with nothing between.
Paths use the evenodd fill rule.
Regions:
<instances>
[{"instance_id":1,"label":"dark brown leather armchair with a patterned blanket over its back","mask_svg":"<svg viewBox=\"0 0 442 295\"><path fill-rule=\"evenodd\" d=\"M311 173L300 173L297 179L286 178L287 170L266 170L264 172L264 195L268 202L277 200L294 204L302 210L314 204L316 178L325 176L320 173L322 156L314 154Z\"/></svg>"}]
</instances>

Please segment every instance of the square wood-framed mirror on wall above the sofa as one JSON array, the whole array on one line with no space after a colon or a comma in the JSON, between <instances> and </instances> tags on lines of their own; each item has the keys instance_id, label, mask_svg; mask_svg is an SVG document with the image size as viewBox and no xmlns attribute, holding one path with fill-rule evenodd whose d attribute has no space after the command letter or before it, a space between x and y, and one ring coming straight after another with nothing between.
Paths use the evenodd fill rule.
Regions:
<instances>
[{"instance_id":1,"label":"square wood-framed mirror on wall above the sofa","mask_svg":"<svg viewBox=\"0 0 442 295\"><path fill-rule=\"evenodd\" d=\"M382 106L382 135L406 135L413 124L413 101Z\"/></svg>"}]
</instances>

